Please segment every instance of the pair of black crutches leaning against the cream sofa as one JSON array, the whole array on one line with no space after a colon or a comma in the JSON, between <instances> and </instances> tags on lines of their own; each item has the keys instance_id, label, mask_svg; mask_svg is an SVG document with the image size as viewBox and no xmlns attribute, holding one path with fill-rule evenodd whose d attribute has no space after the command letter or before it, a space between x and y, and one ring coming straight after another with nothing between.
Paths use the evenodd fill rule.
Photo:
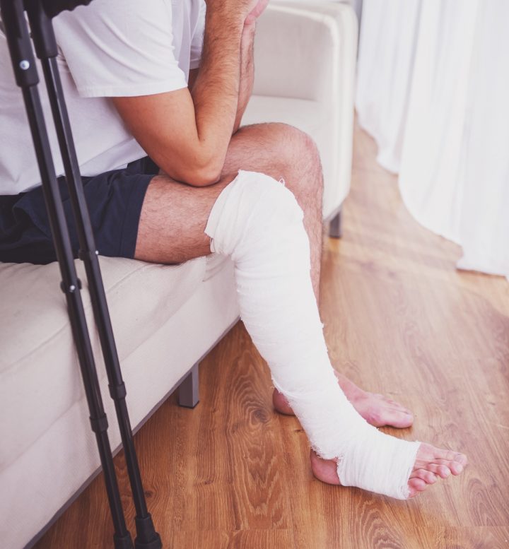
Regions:
<instances>
[{"instance_id":1,"label":"pair of black crutches leaning against the cream sofa","mask_svg":"<svg viewBox=\"0 0 509 549\"><path fill-rule=\"evenodd\" d=\"M44 115L37 91L37 67L24 11L28 13L30 30L37 57L41 60L45 75L54 124L57 129L59 148L64 161L66 183L69 188L71 205L80 245L79 257L85 264L86 276L93 305L95 323L98 327L103 350L110 395L115 401L122 444L127 462L129 481L136 507L136 549L160 549L162 543L156 532L151 514L148 512L141 482L136 450L132 439L131 425L125 401L126 389L120 371L115 339L107 309L105 291L95 250L93 232L88 208L83 194L81 176L76 159L76 150L71 135L69 117L66 110L62 83L57 68L57 42L54 37L52 18L66 9L89 4L90 0L0 0L1 18L4 23L8 47L11 53L16 83L21 87L28 114L30 131L33 136L37 163L39 165L42 190L45 197L49 225L52 231L57 259L62 276L61 288L66 296L69 319L78 353L78 359L85 386L86 399L90 411L90 423L98 443L101 465L103 466L107 497L112 513L115 533L115 549L132 549L131 534L127 530L120 501L117 477L113 465L110 441L107 436L107 418L101 399L97 372L90 336L81 300L81 281L74 266L69 232L62 207L62 199L57 184Z\"/></svg>"}]
</instances>

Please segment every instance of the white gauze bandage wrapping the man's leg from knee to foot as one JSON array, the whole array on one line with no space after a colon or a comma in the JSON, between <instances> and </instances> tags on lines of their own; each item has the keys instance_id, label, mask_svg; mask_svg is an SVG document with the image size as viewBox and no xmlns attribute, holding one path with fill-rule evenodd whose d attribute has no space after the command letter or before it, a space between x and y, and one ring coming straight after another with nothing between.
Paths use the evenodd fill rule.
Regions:
<instances>
[{"instance_id":1,"label":"white gauze bandage wrapping the man's leg from knee to foot","mask_svg":"<svg viewBox=\"0 0 509 549\"><path fill-rule=\"evenodd\" d=\"M303 211L291 191L266 175L239 172L205 232L212 252L233 259L242 321L312 448L338 459L342 485L406 499L419 442L378 431L341 391L312 291Z\"/></svg>"}]
</instances>

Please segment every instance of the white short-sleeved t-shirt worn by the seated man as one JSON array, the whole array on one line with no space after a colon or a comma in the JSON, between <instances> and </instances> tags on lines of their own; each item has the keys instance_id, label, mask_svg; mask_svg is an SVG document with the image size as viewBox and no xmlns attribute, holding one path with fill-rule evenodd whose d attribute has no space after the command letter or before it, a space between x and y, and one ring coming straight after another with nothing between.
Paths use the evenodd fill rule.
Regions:
<instances>
[{"instance_id":1,"label":"white short-sleeved t-shirt worn by the seated man","mask_svg":"<svg viewBox=\"0 0 509 549\"><path fill-rule=\"evenodd\" d=\"M146 155L108 98L185 88L189 69L199 66L204 20L204 0L93 0L54 19L57 61L82 175L114 170ZM40 175L1 30L0 75L0 195L18 194L37 187ZM62 175L44 83L39 93L55 168Z\"/></svg>"}]
</instances>

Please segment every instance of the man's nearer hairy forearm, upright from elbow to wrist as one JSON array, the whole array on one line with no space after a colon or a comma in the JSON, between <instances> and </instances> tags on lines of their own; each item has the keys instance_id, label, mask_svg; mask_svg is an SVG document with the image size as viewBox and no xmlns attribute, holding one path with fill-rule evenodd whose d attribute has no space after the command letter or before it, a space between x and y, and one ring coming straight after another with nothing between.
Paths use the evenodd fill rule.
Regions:
<instances>
[{"instance_id":1,"label":"man's nearer hairy forearm, upright from elbow to wrist","mask_svg":"<svg viewBox=\"0 0 509 549\"><path fill-rule=\"evenodd\" d=\"M207 10L201 66L192 89L198 138L211 151L210 169L217 177L238 112L243 24L231 11Z\"/></svg>"}]
</instances>

